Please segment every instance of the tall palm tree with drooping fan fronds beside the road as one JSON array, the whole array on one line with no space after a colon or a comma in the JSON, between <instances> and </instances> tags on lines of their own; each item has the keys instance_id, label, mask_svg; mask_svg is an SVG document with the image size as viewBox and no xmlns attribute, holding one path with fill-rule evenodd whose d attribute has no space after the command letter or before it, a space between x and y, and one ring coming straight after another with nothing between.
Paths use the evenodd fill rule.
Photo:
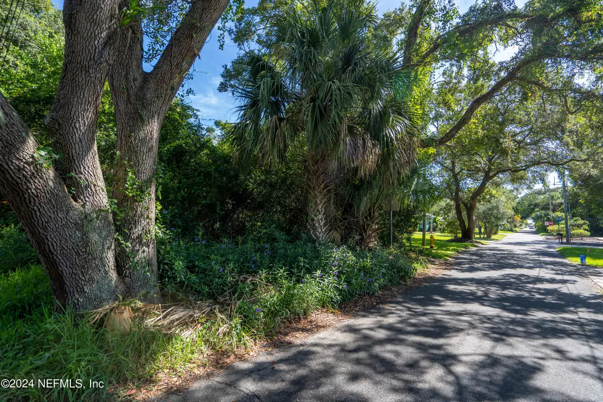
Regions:
<instances>
[{"instance_id":1,"label":"tall palm tree with drooping fan fronds beside the road","mask_svg":"<svg viewBox=\"0 0 603 402\"><path fill-rule=\"evenodd\" d=\"M395 181L400 163L414 158L412 124L395 94L400 57L371 41L374 7L361 0L301 5L271 24L267 51L246 55L242 85L234 90L239 120L227 136L239 163L274 163L289 149L303 152L308 228L325 240L343 169L368 177L387 168Z\"/></svg>"}]
</instances>

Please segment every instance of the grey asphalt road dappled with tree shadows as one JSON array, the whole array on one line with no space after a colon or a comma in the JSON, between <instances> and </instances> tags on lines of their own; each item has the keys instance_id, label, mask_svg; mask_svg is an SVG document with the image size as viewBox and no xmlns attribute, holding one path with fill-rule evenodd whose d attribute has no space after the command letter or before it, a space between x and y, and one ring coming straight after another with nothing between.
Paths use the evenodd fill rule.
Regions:
<instances>
[{"instance_id":1,"label":"grey asphalt road dappled with tree shadows","mask_svg":"<svg viewBox=\"0 0 603 402\"><path fill-rule=\"evenodd\" d=\"M534 231L163 401L603 401L603 301ZM275 361L274 369L270 362Z\"/></svg>"}]
</instances>

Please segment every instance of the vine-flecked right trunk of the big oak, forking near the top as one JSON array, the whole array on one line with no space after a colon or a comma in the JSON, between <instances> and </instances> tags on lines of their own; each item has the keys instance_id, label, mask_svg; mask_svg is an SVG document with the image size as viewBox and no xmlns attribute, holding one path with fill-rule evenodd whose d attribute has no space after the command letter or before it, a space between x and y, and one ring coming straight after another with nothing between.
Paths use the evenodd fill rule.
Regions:
<instances>
[{"instance_id":1,"label":"vine-flecked right trunk of the big oak, forking near the top","mask_svg":"<svg viewBox=\"0 0 603 402\"><path fill-rule=\"evenodd\" d=\"M127 1L122 1L126 7ZM122 55L109 73L117 121L118 163L113 198L120 215L117 271L128 297L154 302L157 257L154 239L159 129L169 105L191 69L227 0L195 0L153 71L142 69L143 31L140 21L121 30Z\"/></svg>"}]
</instances>

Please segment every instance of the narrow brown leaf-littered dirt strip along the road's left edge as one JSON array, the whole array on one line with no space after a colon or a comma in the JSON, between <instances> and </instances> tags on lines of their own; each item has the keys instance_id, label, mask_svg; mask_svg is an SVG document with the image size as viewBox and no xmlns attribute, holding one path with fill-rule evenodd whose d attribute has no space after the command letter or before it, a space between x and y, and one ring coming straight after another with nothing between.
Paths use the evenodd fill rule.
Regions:
<instances>
[{"instance_id":1,"label":"narrow brown leaf-littered dirt strip along the road's left edge","mask_svg":"<svg viewBox=\"0 0 603 402\"><path fill-rule=\"evenodd\" d=\"M351 318L355 312L371 309L392 300L403 292L408 292L409 289L422 286L451 267L452 264L445 260L429 259L429 265L420 269L406 284L385 287L376 295L365 295L343 303L338 310L321 309L304 318L284 319L274 331L274 338L268 341L257 342L252 347L242 348L235 353L212 353L204 356L203 360L190 363L187 368L181 369L177 374L156 374L149 382L125 384L118 390L113 389L110 392L122 400L131 401L146 401L162 394L179 395L180 389L189 388L193 382L201 378L218 374L232 363L251 359L263 351L303 345L304 340L311 334L333 328L340 322Z\"/></svg>"}]
</instances>

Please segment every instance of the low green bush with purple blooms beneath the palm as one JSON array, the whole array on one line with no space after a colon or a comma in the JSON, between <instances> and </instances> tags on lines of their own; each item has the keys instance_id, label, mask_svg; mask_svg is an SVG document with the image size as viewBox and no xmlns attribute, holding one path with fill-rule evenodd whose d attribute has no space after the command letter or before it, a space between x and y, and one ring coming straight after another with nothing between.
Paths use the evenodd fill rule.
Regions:
<instances>
[{"instance_id":1,"label":"low green bush with purple blooms beneath the palm","mask_svg":"<svg viewBox=\"0 0 603 402\"><path fill-rule=\"evenodd\" d=\"M203 233L196 237L203 239ZM282 318L335 307L407 281L420 265L386 249L317 245L309 239L291 242L274 230L203 240L160 231L157 261L162 286L197 300L232 303L245 329L258 335L272 330Z\"/></svg>"}]
</instances>

